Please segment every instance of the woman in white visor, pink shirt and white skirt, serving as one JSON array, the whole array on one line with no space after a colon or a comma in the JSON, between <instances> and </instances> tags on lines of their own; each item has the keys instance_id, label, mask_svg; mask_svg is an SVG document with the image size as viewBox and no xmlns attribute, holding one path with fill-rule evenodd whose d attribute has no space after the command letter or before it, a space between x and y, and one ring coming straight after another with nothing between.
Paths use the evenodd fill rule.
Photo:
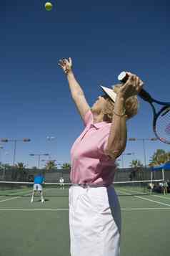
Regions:
<instances>
[{"instance_id":1,"label":"woman in white visor, pink shirt and white skirt, serving","mask_svg":"<svg viewBox=\"0 0 170 256\"><path fill-rule=\"evenodd\" d=\"M119 256L121 210L113 185L115 161L126 148L126 120L137 113L136 95L143 82L128 72L124 85L102 87L104 95L90 108L74 77L71 58L59 65L85 125L71 148L71 256Z\"/></svg>"}]
</instances>

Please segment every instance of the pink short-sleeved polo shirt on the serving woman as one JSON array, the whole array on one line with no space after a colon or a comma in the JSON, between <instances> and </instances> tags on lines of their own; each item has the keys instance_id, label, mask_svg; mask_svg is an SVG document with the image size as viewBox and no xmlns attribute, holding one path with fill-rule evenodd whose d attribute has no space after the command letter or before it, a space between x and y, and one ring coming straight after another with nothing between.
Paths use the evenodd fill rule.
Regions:
<instances>
[{"instance_id":1,"label":"pink short-sleeved polo shirt on the serving woman","mask_svg":"<svg viewBox=\"0 0 170 256\"><path fill-rule=\"evenodd\" d=\"M84 118L86 128L71 148L71 183L111 184L115 161L104 154L111 123L94 123L89 110Z\"/></svg>"}]
</instances>

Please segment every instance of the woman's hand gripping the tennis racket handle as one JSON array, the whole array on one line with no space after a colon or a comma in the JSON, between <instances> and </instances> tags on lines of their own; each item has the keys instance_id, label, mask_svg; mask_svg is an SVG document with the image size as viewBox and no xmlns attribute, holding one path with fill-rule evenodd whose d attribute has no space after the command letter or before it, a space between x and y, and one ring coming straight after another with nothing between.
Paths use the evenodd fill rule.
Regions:
<instances>
[{"instance_id":1,"label":"woman's hand gripping the tennis racket handle","mask_svg":"<svg viewBox=\"0 0 170 256\"><path fill-rule=\"evenodd\" d=\"M140 93L144 86L144 82L138 76L131 74L131 72L126 73L129 75L129 78L124 85L120 87L119 93L117 94L119 97L124 98L124 100Z\"/></svg>"}]
</instances>

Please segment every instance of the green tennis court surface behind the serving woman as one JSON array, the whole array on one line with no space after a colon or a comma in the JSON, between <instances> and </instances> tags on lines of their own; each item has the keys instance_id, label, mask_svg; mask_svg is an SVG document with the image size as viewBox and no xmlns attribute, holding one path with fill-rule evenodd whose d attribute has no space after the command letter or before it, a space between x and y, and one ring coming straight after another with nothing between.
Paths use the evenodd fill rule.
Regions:
<instances>
[{"instance_id":1,"label":"green tennis court surface behind the serving woman","mask_svg":"<svg viewBox=\"0 0 170 256\"><path fill-rule=\"evenodd\" d=\"M44 204L39 196L30 203L31 189L31 184L1 187L0 255L69 256L69 186L46 186ZM169 255L170 194L150 194L143 185L121 184L116 191L122 214L121 256Z\"/></svg>"}]
</instances>

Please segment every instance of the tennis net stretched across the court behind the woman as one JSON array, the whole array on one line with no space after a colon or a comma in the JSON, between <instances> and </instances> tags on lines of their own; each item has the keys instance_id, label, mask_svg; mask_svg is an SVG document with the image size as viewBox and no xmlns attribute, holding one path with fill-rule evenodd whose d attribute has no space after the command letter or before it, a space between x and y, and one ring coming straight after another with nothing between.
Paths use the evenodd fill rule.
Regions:
<instances>
[{"instance_id":1,"label":"tennis net stretched across the court behind the woman","mask_svg":"<svg viewBox=\"0 0 170 256\"><path fill-rule=\"evenodd\" d=\"M113 186L119 196L133 196L160 192L160 183L163 180L146 181L116 181ZM33 182L0 181L0 196L31 196ZM43 184L44 196L69 196L69 183ZM39 194L37 194L39 195Z\"/></svg>"}]
</instances>

